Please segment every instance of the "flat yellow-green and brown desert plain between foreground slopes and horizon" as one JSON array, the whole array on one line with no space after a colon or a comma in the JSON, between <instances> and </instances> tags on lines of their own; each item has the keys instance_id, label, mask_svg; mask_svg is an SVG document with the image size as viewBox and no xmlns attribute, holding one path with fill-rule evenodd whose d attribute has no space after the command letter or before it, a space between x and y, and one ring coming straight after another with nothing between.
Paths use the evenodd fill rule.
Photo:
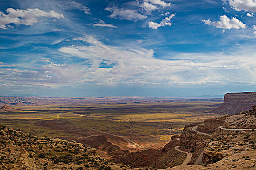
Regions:
<instances>
[{"instance_id":1,"label":"flat yellow-green and brown desert plain between foreground slopes and horizon","mask_svg":"<svg viewBox=\"0 0 256 170\"><path fill-rule=\"evenodd\" d=\"M13 108L21 111L1 112L0 123L35 136L76 140L109 158L127 151L161 148L171 141L171 136L179 135L185 125L218 117L210 111L220 103L16 105Z\"/></svg>"}]
</instances>

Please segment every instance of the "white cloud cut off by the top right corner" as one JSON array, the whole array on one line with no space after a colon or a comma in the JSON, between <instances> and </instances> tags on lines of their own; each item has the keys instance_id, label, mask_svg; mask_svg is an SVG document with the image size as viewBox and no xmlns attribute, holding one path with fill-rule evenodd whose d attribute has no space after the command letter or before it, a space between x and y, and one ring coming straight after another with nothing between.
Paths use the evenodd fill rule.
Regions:
<instances>
[{"instance_id":1,"label":"white cloud cut off by the top right corner","mask_svg":"<svg viewBox=\"0 0 256 170\"><path fill-rule=\"evenodd\" d=\"M227 1L227 0L223 0ZM255 0L228 0L229 5L236 11L250 11L256 12Z\"/></svg>"}]
</instances>

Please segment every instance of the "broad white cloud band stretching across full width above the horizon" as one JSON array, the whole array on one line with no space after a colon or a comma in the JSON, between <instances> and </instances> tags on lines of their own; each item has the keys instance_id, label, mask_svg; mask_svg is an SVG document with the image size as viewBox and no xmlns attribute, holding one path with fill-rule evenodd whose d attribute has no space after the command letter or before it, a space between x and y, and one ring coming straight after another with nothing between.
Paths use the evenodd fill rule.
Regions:
<instances>
[{"instance_id":1,"label":"broad white cloud band stretching across full width above the horizon","mask_svg":"<svg viewBox=\"0 0 256 170\"><path fill-rule=\"evenodd\" d=\"M58 87L66 85L227 85L255 84L255 52L181 53L173 60L154 57L154 51L135 45L106 45L92 35L76 37L82 46L62 47L59 51L84 59L82 64L56 64L44 58L35 68L0 67L5 84ZM81 43L79 43L81 44ZM89 44L89 45L88 45ZM253 47L254 48L254 47ZM244 52L246 51L246 52ZM63 61L68 61L66 58ZM27 62L27 61L26 61ZM34 61L31 61L34 63ZM101 68L101 64L112 65ZM1 63L3 64L3 63ZM12 64L8 64L12 66Z\"/></svg>"}]
</instances>

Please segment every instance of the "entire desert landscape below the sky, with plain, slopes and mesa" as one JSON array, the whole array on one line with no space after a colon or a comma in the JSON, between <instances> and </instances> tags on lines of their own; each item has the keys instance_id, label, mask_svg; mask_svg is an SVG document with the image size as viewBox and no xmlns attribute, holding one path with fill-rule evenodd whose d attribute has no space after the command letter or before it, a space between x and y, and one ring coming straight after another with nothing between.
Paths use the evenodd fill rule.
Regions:
<instances>
[{"instance_id":1,"label":"entire desert landscape below the sky, with plain, slopes and mesa","mask_svg":"<svg viewBox=\"0 0 256 170\"><path fill-rule=\"evenodd\" d=\"M2 169L256 169L256 92L221 99L14 98ZM8 106L10 105L10 106Z\"/></svg>"}]
</instances>

